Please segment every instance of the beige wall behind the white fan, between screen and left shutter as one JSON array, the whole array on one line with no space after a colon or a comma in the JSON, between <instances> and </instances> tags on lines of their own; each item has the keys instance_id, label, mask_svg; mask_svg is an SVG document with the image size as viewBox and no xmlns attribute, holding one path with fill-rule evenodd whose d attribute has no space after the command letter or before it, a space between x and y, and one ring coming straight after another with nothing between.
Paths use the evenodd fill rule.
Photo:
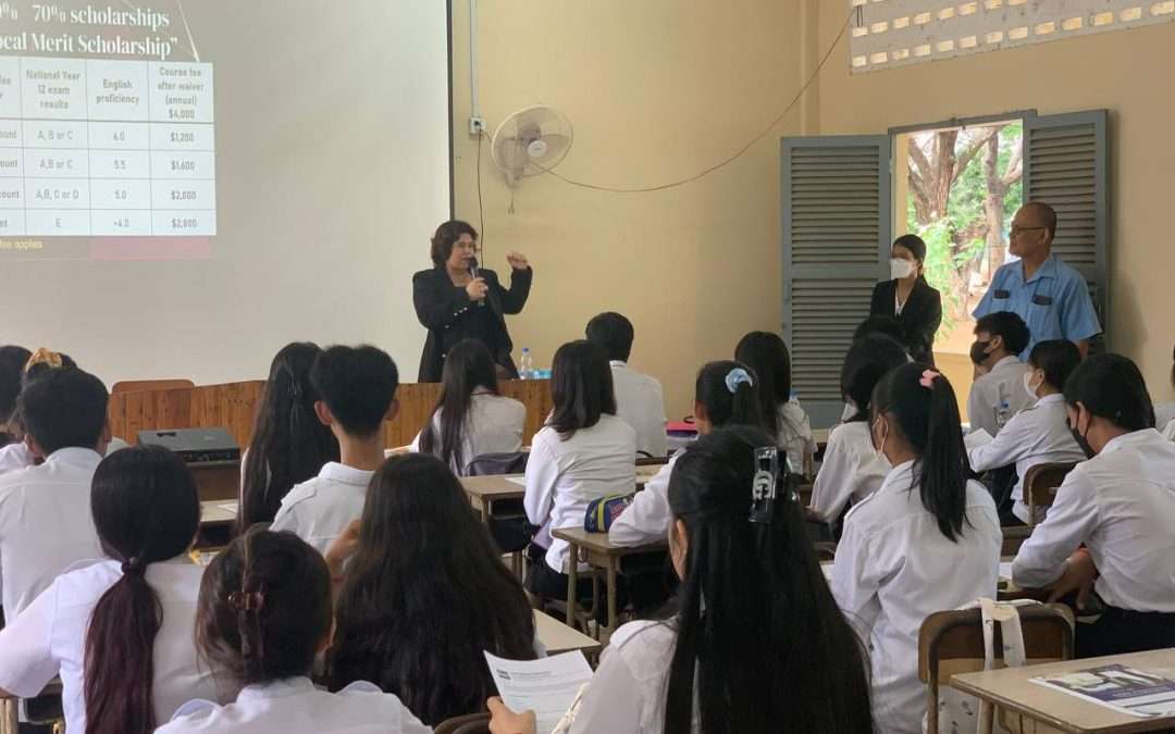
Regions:
<instances>
[{"instance_id":1,"label":"beige wall behind the white fan, between screen and left shutter","mask_svg":"<svg viewBox=\"0 0 1175 734\"><path fill-rule=\"evenodd\" d=\"M576 126L566 176L615 187L684 179L794 96L801 21L799 0L481 0L482 112L492 130L529 105L563 110ZM454 0L457 214L476 227L468 31L466 0ZM503 272L517 249L535 265L530 303L510 322L517 349L550 365L591 316L620 311L637 329L633 364L662 379L671 418L689 413L704 361L728 358L744 331L779 328L778 139L798 133L805 112L817 113L794 110L698 183L609 194L529 179L515 214L486 141L485 264Z\"/></svg>"}]
</instances>

